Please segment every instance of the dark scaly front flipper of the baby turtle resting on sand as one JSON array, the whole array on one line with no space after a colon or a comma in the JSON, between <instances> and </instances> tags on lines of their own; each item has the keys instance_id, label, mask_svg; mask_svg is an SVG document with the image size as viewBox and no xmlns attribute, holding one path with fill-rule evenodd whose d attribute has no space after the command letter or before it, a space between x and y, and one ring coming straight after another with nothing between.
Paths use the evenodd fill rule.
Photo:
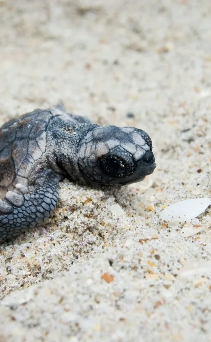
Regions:
<instances>
[{"instance_id":1,"label":"dark scaly front flipper of the baby turtle resting on sand","mask_svg":"<svg viewBox=\"0 0 211 342\"><path fill-rule=\"evenodd\" d=\"M7 192L0 200L0 243L41 225L52 215L59 181L54 172L44 170L33 186L17 184L14 191Z\"/></svg>"}]
</instances>

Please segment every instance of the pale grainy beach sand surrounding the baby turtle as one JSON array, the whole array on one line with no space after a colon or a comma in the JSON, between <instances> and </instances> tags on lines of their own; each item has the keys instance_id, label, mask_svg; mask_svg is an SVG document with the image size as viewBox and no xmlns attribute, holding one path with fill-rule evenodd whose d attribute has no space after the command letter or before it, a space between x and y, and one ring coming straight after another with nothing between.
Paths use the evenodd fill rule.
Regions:
<instances>
[{"instance_id":1,"label":"pale grainy beach sand surrounding the baby turtle","mask_svg":"<svg viewBox=\"0 0 211 342\"><path fill-rule=\"evenodd\" d=\"M211 341L210 209L159 216L210 197L210 15L209 0L0 2L0 124L63 100L146 130L157 162L121 189L62 182L45 226L1 245L1 342Z\"/></svg>"}]
</instances>

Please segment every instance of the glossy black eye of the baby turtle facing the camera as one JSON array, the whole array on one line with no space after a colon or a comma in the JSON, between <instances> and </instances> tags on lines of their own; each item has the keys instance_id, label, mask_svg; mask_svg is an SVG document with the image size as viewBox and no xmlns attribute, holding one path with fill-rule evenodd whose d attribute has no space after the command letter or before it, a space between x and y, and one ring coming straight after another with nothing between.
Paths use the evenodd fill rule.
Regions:
<instances>
[{"instance_id":1,"label":"glossy black eye of the baby turtle facing the camera","mask_svg":"<svg viewBox=\"0 0 211 342\"><path fill-rule=\"evenodd\" d=\"M107 175L113 178L128 176L132 172L131 165L116 155L101 158L100 166Z\"/></svg>"}]
</instances>

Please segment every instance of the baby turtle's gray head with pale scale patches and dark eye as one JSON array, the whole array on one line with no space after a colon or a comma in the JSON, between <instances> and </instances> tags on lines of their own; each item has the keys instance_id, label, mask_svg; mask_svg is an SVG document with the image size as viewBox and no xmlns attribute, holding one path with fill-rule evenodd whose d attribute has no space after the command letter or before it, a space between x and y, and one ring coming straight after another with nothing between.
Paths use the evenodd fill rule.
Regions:
<instances>
[{"instance_id":1,"label":"baby turtle's gray head with pale scale patches and dark eye","mask_svg":"<svg viewBox=\"0 0 211 342\"><path fill-rule=\"evenodd\" d=\"M156 167L152 141L146 132L133 127L95 127L80 143L78 167L86 183L143 181Z\"/></svg>"}]
</instances>

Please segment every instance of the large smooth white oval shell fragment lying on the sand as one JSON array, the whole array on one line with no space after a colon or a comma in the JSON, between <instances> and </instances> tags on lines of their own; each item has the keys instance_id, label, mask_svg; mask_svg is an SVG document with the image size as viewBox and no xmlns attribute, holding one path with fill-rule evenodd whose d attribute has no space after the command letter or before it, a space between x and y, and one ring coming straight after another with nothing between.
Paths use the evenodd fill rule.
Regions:
<instances>
[{"instance_id":1,"label":"large smooth white oval shell fragment lying on the sand","mask_svg":"<svg viewBox=\"0 0 211 342\"><path fill-rule=\"evenodd\" d=\"M209 205L209 198L195 198L171 204L160 213L165 221L178 220L179 222L190 221L200 215Z\"/></svg>"}]
</instances>

